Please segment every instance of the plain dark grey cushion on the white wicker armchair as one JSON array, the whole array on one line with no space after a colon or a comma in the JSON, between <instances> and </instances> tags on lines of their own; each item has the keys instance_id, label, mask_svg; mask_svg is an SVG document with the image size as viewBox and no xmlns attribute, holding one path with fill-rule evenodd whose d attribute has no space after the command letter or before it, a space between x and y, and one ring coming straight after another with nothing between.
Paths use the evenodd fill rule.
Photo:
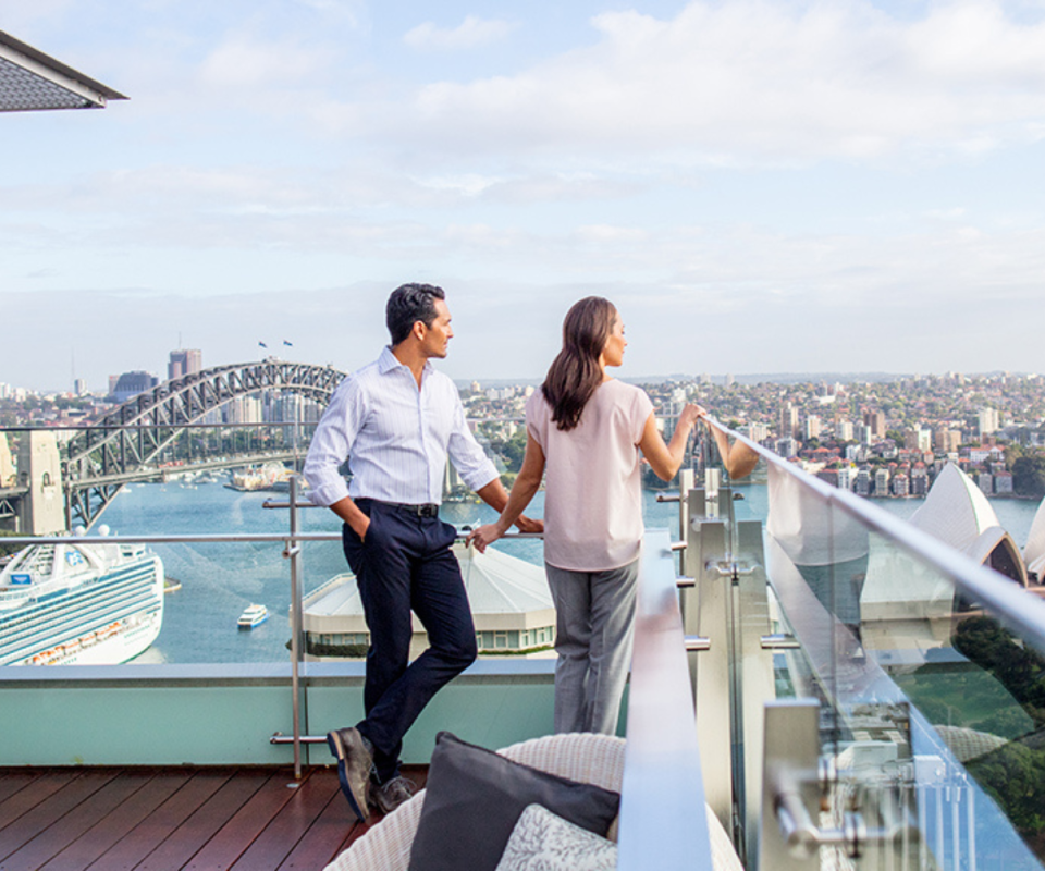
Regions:
<instances>
[{"instance_id":1,"label":"plain dark grey cushion on the white wicker armchair","mask_svg":"<svg viewBox=\"0 0 1045 871\"><path fill-rule=\"evenodd\" d=\"M520 765L441 732L409 871L495 871L528 805L605 835L619 802L617 793Z\"/></svg>"}]
</instances>

